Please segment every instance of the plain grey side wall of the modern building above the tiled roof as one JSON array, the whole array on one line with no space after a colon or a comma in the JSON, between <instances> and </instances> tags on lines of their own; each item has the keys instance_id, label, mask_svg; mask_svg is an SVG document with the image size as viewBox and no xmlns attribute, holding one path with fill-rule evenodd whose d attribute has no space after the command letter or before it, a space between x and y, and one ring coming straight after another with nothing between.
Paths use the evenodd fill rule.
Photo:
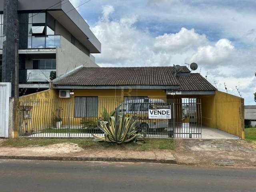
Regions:
<instances>
[{"instance_id":1,"label":"plain grey side wall of the modern building above the tiled roof","mask_svg":"<svg viewBox=\"0 0 256 192\"><path fill-rule=\"evenodd\" d=\"M80 65L84 67L99 67L90 60L90 56L79 50L63 36L60 36L60 48L56 48L56 75L65 74Z\"/></svg>"}]
</instances>

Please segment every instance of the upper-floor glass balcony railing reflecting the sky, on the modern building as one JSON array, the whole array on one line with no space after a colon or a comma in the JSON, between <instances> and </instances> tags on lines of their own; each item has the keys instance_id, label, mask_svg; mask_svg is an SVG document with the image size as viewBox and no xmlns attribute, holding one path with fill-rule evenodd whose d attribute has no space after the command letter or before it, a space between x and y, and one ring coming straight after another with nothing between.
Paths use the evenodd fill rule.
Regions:
<instances>
[{"instance_id":1,"label":"upper-floor glass balcony railing reflecting the sky, on the modern building","mask_svg":"<svg viewBox=\"0 0 256 192\"><path fill-rule=\"evenodd\" d=\"M60 47L60 35L20 36L20 49Z\"/></svg>"}]
</instances>

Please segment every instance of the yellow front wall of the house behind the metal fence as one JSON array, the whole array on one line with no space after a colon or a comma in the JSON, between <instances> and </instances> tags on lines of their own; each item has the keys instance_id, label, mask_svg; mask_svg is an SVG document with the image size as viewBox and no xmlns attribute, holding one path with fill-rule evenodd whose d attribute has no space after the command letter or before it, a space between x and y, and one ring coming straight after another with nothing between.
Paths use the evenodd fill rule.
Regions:
<instances>
[{"instance_id":1,"label":"yellow front wall of the house behind the metal fence","mask_svg":"<svg viewBox=\"0 0 256 192\"><path fill-rule=\"evenodd\" d=\"M98 117L86 118L90 121L97 120L103 116L104 108L108 113L114 112L115 108L123 101L124 96L148 96L149 98L166 99L164 90L72 90L74 95L70 98L59 98L58 90L46 90L35 94L20 97L20 105L32 106L31 118L20 116L22 132L42 132L55 126L53 121L60 109L62 126L80 126L81 118L74 117L74 98L76 96L98 96ZM70 114L68 114L70 108ZM71 118L68 118L71 117Z\"/></svg>"}]
</instances>

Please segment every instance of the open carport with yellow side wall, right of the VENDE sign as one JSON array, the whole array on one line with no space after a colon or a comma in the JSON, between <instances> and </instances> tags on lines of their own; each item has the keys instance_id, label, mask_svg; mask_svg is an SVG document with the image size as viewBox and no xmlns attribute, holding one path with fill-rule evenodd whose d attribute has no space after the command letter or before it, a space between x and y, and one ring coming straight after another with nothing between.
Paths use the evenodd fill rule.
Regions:
<instances>
[{"instance_id":1,"label":"open carport with yellow side wall, right of the VENDE sign","mask_svg":"<svg viewBox=\"0 0 256 192\"><path fill-rule=\"evenodd\" d=\"M175 107L175 138L244 139L244 99L218 90L182 89L166 91L166 98L181 103Z\"/></svg>"}]
</instances>

